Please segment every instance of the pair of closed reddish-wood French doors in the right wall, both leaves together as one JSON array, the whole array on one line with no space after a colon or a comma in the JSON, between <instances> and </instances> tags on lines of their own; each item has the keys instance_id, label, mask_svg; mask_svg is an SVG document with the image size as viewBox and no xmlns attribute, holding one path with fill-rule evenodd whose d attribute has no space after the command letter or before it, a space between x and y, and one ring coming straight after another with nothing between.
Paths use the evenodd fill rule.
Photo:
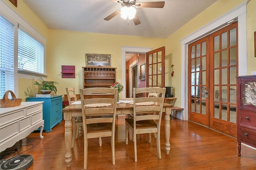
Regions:
<instances>
[{"instance_id":1,"label":"pair of closed reddish-wood French doors in the right wall, both leaves together","mask_svg":"<svg viewBox=\"0 0 256 170\"><path fill-rule=\"evenodd\" d=\"M237 22L188 45L188 119L236 137Z\"/></svg>"}]
</instances>

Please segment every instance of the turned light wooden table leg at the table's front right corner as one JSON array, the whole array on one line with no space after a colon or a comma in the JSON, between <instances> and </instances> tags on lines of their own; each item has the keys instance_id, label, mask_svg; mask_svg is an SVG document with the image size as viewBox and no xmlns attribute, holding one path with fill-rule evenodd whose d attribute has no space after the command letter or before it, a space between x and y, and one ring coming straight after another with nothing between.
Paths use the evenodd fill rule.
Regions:
<instances>
[{"instance_id":1,"label":"turned light wooden table leg at the table's front right corner","mask_svg":"<svg viewBox=\"0 0 256 170\"><path fill-rule=\"evenodd\" d=\"M168 107L164 113L165 152L167 155L170 153L170 114L171 108Z\"/></svg>"}]
</instances>

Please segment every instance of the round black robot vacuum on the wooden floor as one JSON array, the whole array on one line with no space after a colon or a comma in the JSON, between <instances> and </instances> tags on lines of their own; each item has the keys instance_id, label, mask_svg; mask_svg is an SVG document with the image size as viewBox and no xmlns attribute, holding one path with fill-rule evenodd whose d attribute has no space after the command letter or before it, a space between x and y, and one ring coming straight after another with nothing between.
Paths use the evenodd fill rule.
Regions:
<instances>
[{"instance_id":1,"label":"round black robot vacuum on the wooden floor","mask_svg":"<svg viewBox=\"0 0 256 170\"><path fill-rule=\"evenodd\" d=\"M26 170L33 163L33 156L23 154L9 158L0 163L0 170Z\"/></svg>"}]
</instances>

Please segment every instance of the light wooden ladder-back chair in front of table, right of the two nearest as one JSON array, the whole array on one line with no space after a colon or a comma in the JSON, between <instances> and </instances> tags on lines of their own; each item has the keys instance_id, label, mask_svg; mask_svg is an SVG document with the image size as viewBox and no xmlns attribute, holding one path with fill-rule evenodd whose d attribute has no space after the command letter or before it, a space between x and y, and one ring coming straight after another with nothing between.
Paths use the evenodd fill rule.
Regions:
<instances>
[{"instance_id":1,"label":"light wooden ladder-back chair in front of table, right of the two nearest","mask_svg":"<svg viewBox=\"0 0 256 170\"><path fill-rule=\"evenodd\" d=\"M156 144L158 158L161 159L160 150L160 125L162 110L164 105L164 95L166 88L145 87L133 89L133 118L125 119L126 124L126 144L128 144L128 128L132 130L134 138L134 159L137 162L137 141L136 134L156 132ZM158 97L139 97L138 93L158 93ZM150 114L158 112L158 115ZM157 121L156 121L157 120Z\"/></svg>"}]
</instances>

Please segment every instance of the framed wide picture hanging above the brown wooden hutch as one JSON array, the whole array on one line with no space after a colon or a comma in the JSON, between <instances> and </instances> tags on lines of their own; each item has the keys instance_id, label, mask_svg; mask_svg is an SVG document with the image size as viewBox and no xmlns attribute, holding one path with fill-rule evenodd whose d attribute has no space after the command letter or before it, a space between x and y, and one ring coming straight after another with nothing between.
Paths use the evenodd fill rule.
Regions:
<instances>
[{"instance_id":1,"label":"framed wide picture hanging above the brown wooden hutch","mask_svg":"<svg viewBox=\"0 0 256 170\"><path fill-rule=\"evenodd\" d=\"M111 66L110 54L85 54L86 66Z\"/></svg>"}]
</instances>

